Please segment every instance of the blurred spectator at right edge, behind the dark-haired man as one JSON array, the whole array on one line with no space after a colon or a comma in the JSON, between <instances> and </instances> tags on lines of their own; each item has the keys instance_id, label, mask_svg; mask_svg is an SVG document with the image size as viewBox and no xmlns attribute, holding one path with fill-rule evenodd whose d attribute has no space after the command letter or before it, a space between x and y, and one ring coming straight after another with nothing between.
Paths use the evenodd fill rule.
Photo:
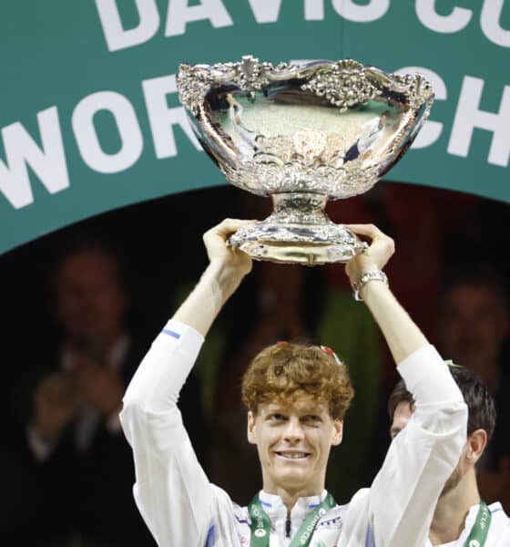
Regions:
<instances>
[{"instance_id":1,"label":"blurred spectator at right edge, behind the dark-haired man","mask_svg":"<svg viewBox=\"0 0 510 547\"><path fill-rule=\"evenodd\" d=\"M487 502L510 509L510 367L505 283L487 264L466 263L449 276L442 295L438 339L444 356L474 371L495 397L494 438L478 464Z\"/></svg>"}]
</instances>

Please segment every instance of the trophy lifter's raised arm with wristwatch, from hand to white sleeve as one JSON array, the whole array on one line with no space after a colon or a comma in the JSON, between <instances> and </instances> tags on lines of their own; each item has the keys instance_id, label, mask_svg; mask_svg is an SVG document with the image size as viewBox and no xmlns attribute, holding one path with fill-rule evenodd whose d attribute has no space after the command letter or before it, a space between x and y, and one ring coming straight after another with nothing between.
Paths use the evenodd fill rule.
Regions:
<instances>
[{"instance_id":1,"label":"trophy lifter's raised arm with wristwatch, from hand to white sleeve","mask_svg":"<svg viewBox=\"0 0 510 547\"><path fill-rule=\"evenodd\" d=\"M378 547L424 545L437 500L465 442L467 408L441 356L392 294L370 273L382 270L393 241L372 225L350 226L371 245L346 266L382 330L415 412L393 439L369 495L370 533ZM368 275L367 275L368 274ZM363 277L364 276L364 277Z\"/></svg>"}]
</instances>

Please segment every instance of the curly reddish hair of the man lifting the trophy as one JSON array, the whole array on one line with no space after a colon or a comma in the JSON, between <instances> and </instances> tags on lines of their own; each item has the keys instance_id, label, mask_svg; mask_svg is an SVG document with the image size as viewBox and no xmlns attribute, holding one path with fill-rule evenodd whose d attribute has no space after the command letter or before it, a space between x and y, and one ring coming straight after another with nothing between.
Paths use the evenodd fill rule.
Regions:
<instances>
[{"instance_id":1,"label":"curly reddish hair of the man lifting the trophy","mask_svg":"<svg viewBox=\"0 0 510 547\"><path fill-rule=\"evenodd\" d=\"M334 354L333 354L334 355ZM308 397L343 418L354 389L347 368L318 346L285 343L264 348L242 378L242 400L252 412L260 404Z\"/></svg>"}]
</instances>

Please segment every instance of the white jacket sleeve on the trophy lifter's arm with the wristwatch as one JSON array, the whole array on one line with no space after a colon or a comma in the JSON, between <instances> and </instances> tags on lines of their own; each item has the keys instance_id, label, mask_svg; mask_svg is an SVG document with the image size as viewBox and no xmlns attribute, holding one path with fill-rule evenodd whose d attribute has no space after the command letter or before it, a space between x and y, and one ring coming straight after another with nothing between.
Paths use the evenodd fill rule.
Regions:
<instances>
[{"instance_id":1,"label":"white jacket sleeve on the trophy lifter's arm with the wristwatch","mask_svg":"<svg viewBox=\"0 0 510 547\"><path fill-rule=\"evenodd\" d=\"M435 348L419 349L398 370L415 410L372 483L369 522L378 547L426 544L435 505L466 440L464 398Z\"/></svg>"}]
</instances>

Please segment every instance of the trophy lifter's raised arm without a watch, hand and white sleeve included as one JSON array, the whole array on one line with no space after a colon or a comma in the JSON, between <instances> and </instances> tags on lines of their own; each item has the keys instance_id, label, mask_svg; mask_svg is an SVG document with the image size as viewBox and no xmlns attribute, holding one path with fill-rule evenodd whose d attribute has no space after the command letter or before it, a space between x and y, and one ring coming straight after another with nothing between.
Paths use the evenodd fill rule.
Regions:
<instances>
[{"instance_id":1,"label":"trophy lifter's raised arm without a watch, hand and white sleeve included","mask_svg":"<svg viewBox=\"0 0 510 547\"><path fill-rule=\"evenodd\" d=\"M158 545L205 545L215 490L189 442L177 402L204 335L251 269L225 241L244 222L226 220L204 235L209 266L154 340L124 397L122 427L133 449L138 509Z\"/></svg>"}]
</instances>

